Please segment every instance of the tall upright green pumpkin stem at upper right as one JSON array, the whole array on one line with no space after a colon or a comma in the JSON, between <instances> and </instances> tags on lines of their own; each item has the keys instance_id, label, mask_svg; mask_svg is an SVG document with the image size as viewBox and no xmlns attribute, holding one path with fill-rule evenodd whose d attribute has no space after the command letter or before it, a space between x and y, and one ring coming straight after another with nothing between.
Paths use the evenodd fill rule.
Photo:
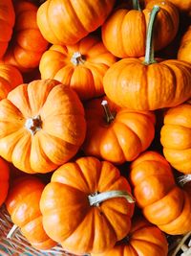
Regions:
<instances>
[{"instance_id":1,"label":"tall upright green pumpkin stem at upper right","mask_svg":"<svg viewBox=\"0 0 191 256\"><path fill-rule=\"evenodd\" d=\"M156 5L153 7L150 14L149 24L147 28L147 35L146 35L146 50L145 50L145 58L144 58L145 65L150 65L157 62L154 58L155 51L154 51L153 33L154 33L154 23L159 10L160 10L159 6Z\"/></svg>"}]
</instances>

